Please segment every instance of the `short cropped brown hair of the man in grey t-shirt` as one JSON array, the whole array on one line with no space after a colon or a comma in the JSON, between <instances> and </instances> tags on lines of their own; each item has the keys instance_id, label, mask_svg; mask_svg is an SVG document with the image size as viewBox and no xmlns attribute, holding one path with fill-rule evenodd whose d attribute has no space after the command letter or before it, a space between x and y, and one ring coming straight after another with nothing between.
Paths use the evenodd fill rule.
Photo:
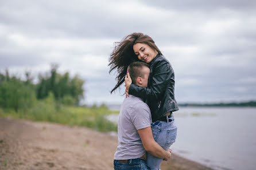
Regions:
<instances>
[{"instance_id":1,"label":"short cropped brown hair of the man in grey t-shirt","mask_svg":"<svg viewBox=\"0 0 256 170\"><path fill-rule=\"evenodd\" d=\"M130 73L130 77L131 77L131 80L133 81L133 84L136 83L137 77L144 78L145 73L143 73L141 70L143 66L149 68L149 65L146 64L146 62L142 62L142 61L132 62L128 66L127 71Z\"/></svg>"}]
</instances>

